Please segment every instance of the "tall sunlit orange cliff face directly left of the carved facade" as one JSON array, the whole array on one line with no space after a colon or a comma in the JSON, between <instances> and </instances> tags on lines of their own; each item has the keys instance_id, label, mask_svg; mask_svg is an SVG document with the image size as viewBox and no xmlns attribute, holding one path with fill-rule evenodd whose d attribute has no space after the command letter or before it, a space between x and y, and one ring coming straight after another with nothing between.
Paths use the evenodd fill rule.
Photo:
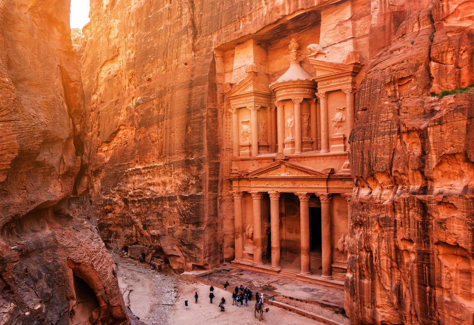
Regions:
<instances>
[{"instance_id":1,"label":"tall sunlit orange cliff face directly left of the carved facade","mask_svg":"<svg viewBox=\"0 0 474 325\"><path fill-rule=\"evenodd\" d=\"M232 148L213 50L330 2L91 1L81 73L106 242L157 248L178 271L233 259Z\"/></svg>"}]
</instances>

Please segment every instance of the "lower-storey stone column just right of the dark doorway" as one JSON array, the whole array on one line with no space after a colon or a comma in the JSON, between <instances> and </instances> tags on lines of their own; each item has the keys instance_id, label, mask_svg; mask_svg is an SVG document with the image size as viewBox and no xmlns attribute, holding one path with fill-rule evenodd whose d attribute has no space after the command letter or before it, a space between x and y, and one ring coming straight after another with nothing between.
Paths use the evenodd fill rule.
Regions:
<instances>
[{"instance_id":1,"label":"lower-storey stone column just right of the dark doorway","mask_svg":"<svg viewBox=\"0 0 474 325\"><path fill-rule=\"evenodd\" d=\"M321 201L321 279L332 280L331 195L321 193L317 194L317 196L319 196Z\"/></svg>"}]
</instances>

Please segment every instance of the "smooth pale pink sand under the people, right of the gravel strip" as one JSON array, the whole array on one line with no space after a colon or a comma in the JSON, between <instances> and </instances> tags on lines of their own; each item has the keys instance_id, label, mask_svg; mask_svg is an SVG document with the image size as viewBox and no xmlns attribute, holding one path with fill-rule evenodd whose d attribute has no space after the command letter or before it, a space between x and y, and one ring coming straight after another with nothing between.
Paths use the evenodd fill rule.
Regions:
<instances>
[{"instance_id":1,"label":"smooth pale pink sand under the people, right of the gravel strip","mask_svg":"<svg viewBox=\"0 0 474 325\"><path fill-rule=\"evenodd\" d=\"M288 312L286 310L267 306L270 308L268 313L264 313L264 320L259 322L254 318L255 300L248 303L248 307L232 305L232 295L222 289L215 288L216 297L213 303L209 302L209 286L201 283L178 281L179 297L175 306L172 308L168 323L170 325L194 325L194 324L272 324L272 325L310 325L322 324L306 317ZM199 298L197 304L194 302L194 292L197 292ZM225 312L221 312L217 307L221 297L226 299ZM189 310L184 308L184 300L189 302Z\"/></svg>"}]
</instances>

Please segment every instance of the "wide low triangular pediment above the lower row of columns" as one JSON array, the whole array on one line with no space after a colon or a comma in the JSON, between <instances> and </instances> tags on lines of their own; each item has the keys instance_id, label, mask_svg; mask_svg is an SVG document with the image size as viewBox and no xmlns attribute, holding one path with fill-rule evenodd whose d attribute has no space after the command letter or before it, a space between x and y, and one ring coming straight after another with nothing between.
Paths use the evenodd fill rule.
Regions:
<instances>
[{"instance_id":1,"label":"wide low triangular pediment above the lower row of columns","mask_svg":"<svg viewBox=\"0 0 474 325\"><path fill-rule=\"evenodd\" d=\"M244 177L294 177L294 176L307 176L307 177L324 177L329 176L325 173L314 168L303 166L292 162L278 161L271 165L263 168L251 171L244 175Z\"/></svg>"}]
</instances>

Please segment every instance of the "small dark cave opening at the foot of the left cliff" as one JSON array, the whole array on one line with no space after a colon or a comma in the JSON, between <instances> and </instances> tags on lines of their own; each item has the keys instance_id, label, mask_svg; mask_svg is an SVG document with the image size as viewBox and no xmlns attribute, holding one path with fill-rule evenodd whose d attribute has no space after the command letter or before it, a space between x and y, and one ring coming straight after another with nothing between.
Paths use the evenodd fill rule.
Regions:
<instances>
[{"instance_id":1,"label":"small dark cave opening at the foot of the left cliff","mask_svg":"<svg viewBox=\"0 0 474 325\"><path fill-rule=\"evenodd\" d=\"M70 324L92 324L93 312L99 308L99 300L89 285L73 274L76 302L69 313Z\"/></svg>"}]
</instances>

